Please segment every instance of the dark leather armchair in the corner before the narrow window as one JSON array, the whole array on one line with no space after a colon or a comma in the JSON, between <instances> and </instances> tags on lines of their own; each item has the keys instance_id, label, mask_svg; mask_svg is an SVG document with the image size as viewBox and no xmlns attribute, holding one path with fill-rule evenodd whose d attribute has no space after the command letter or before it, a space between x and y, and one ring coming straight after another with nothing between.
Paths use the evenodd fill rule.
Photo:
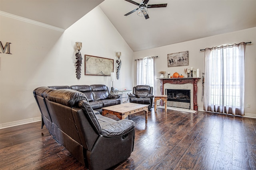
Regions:
<instances>
[{"instance_id":1,"label":"dark leather armchair in the corner before the narrow window","mask_svg":"<svg viewBox=\"0 0 256 170\"><path fill-rule=\"evenodd\" d=\"M146 104L151 109L153 103L153 87L148 85L138 85L133 87L132 94L129 95L130 103Z\"/></svg>"}]
</instances>

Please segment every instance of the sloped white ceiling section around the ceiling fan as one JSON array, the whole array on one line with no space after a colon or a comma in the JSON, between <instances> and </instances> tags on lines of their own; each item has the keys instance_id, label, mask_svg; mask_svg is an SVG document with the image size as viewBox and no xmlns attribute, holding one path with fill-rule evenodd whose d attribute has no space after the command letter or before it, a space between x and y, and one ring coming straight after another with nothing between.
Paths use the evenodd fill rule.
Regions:
<instances>
[{"instance_id":1,"label":"sloped white ceiling section around the ceiling fan","mask_svg":"<svg viewBox=\"0 0 256 170\"><path fill-rule=\"evenodd\" d=\"M141 0L134 0L138 3ZM149 19L124 0L105 0L100 8L133 51L141 51L256 27L256 0L149 0Z\"/></svg>"}]
</instances>

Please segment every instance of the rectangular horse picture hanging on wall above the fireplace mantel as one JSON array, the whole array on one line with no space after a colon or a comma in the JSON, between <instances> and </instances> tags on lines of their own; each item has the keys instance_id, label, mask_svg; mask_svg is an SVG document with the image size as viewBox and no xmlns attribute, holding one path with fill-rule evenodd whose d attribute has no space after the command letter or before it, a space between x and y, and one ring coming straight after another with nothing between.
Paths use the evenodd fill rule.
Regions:
<instances>
[{"instance_id":1,"label":"rectangular horse picture hanging on wall above the fireplace mantel","mask_svg":"<svg viewBox=\"0 0 256 170\"><path fill-rule=\"evenodd\" d=\"M167 54L168 67L188 66L188 51Z\"/></svg>"}]
</instances>

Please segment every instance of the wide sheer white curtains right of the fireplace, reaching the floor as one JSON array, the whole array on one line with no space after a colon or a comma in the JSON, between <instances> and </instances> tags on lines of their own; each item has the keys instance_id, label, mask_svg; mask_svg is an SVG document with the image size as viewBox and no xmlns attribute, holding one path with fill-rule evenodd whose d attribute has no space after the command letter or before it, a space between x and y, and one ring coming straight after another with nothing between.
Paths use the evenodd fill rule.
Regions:
<instances>
[{"instance_id":1,"label":"wide sheer white curtains right of the fireplace, reaching the floor","mask_svg":"<svg viewBox=\"0 0 256 170\"><path fill-rule=\"evenodd\" d=\"M246 43L205 49L204 110L244 115Z\"/></svg>"}]
</instances>

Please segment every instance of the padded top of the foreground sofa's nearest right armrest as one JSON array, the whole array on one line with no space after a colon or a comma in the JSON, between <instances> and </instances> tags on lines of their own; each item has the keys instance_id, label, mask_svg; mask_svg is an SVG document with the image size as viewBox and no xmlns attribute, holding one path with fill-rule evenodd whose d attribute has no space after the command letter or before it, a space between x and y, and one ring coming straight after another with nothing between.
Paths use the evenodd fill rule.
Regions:
<instances>
[{"instance_id":1,"label":"padded top of the foreground sofa's nearest right armrest","mask_svg":"<svg viewBox=\"0 0 256 170\"><path fill-rule=\"evenodd\" d=\"M105 137L118 137L132 131L134 126L134 121L123 119L101 127L101 133Z\"/></svg>"}]
</instances>

